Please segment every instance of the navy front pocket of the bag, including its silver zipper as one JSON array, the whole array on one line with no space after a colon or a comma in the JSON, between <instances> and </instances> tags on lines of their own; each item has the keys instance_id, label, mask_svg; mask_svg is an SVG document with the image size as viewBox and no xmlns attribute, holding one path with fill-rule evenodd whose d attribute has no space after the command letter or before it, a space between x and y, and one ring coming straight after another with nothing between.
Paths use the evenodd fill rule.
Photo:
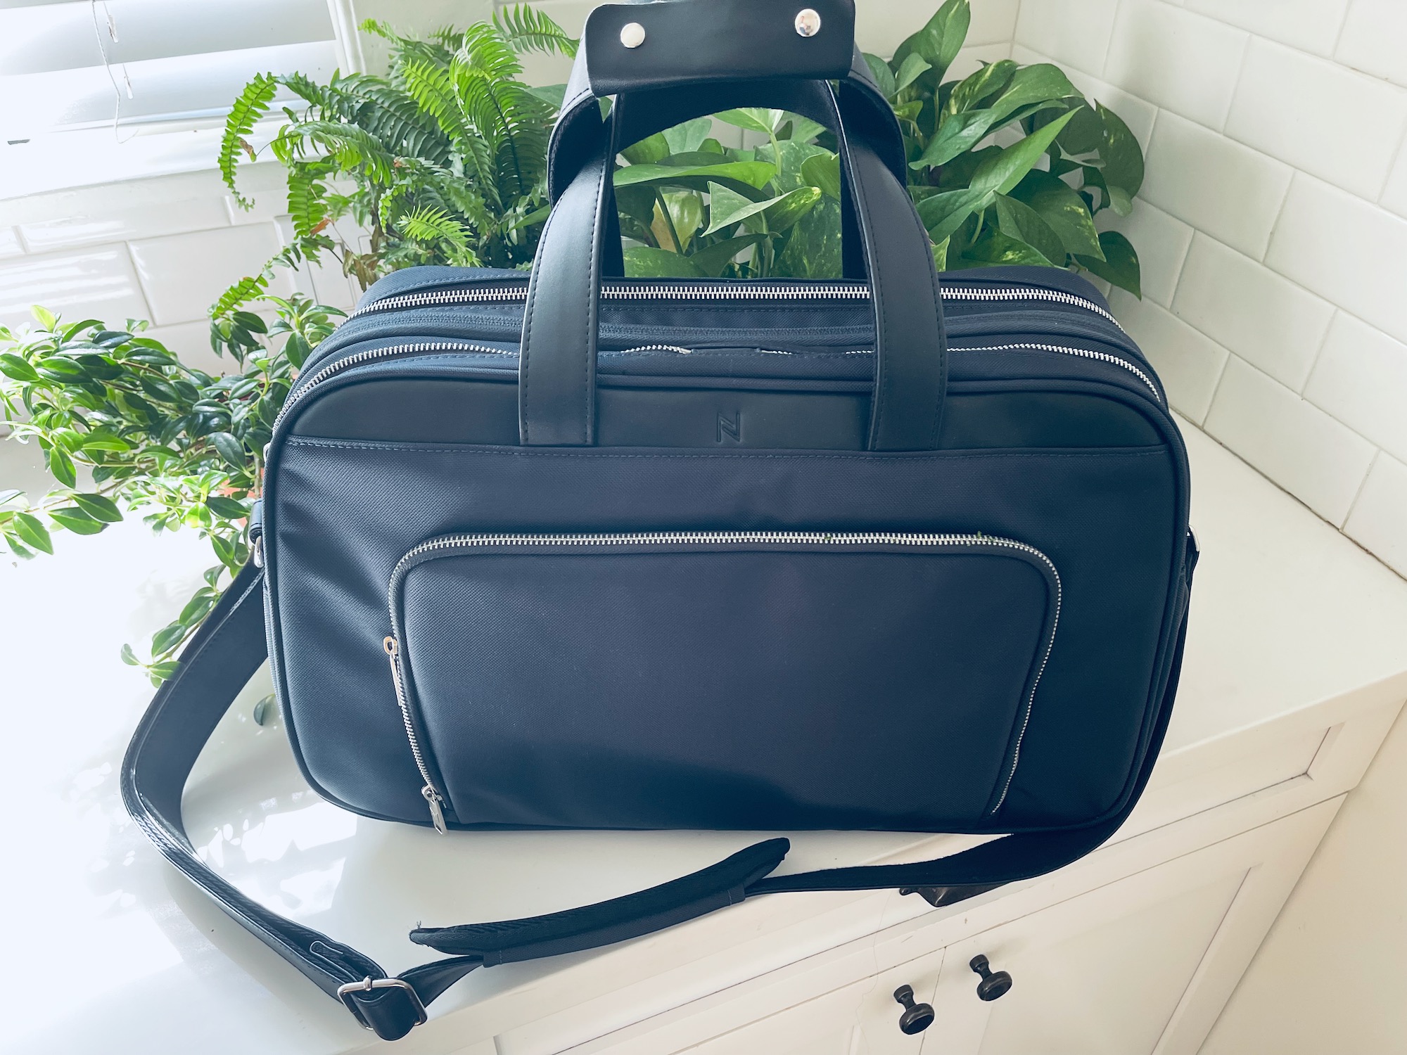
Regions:
<instances>
[{"instance_id":1,"label":"navy front pocket of the bag, including its silver zipper","mask_svg":"<svg viewBox=\"0 0 1407 1055\"><path fill-rule=\"evenodd\" d=\"M450 535L388 605L442 830L944 830L1006 799L1061 587L979 533Z\"/></svg>"}]
</instances>

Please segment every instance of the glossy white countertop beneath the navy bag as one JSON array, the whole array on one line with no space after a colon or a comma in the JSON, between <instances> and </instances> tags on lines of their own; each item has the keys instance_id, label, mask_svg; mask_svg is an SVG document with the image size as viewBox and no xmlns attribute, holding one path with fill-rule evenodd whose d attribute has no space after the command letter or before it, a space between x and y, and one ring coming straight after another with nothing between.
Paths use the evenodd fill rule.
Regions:
<instances>
[{"instance_id":1,"label":"glossy white countertop beneath the navy bag","mask_svg":"<svg viewBox=\"0 0 1407 1055\"><path fill-rule=\"evenodd\" d=\"M1327 699L1407 696L1407 581L1183 428L1202 563L1165 754ZM3 1052L380 1047L169 868L122 810L117 765L151 688L118 663L118 648L145 640L208 563L191 533L152 539L138 523L62 537L56 560L0 565L8 747L0 793L10 803L0 979L11 1009ZM186 799L191 837L242 889L391 972L431 958L404 937L421 920L508 919L592 902L692 871L754 838L438 837L356 817L307 789L277 723L253 723L263 692L246 691L201 757ZM794 837L785 869L931 855L964 841L810 833ZM660 948L680 955L677 942ZM582 985L599 957L476 972L395 1051L454 1049L453 1023L443 1018L456 1010L512 1006L518 1020L530 1017L533 993L552 990L553 975L571 972Z\"/></svg>"}]
</instances>

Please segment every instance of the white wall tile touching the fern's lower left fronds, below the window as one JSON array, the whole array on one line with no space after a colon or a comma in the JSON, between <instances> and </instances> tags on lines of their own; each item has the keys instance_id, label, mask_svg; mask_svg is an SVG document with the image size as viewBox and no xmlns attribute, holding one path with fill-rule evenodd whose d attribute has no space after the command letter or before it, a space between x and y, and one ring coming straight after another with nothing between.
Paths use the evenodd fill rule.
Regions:
<instances>
[{"instance_id":1,"label":"white wall tile touching the fern's lower left fronds, below the window","mask_svg":"<svg viewBox=\"0 0 1407 1055\"><path fill-rule=\"evenodd\" d=\"M151 238L131 248L152 322L166 326L204 318L229 286L263 270L279 252L279 235L272 224L257 224ZM293 291L286 271L276 271L270 290L279 295Z\"/></svg>"}]
</instances>

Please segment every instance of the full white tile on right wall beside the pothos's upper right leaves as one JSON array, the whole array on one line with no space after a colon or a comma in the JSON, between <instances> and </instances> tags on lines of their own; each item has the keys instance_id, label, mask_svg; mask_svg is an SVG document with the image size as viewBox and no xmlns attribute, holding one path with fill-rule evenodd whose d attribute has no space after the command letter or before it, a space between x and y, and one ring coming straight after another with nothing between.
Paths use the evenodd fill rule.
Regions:
<instances>
[{"instance_id":1,"label":"full white tile on right wall beside the pothos's upper right leaves","mask_svg":"<svg viewBox=\"0 0 1407 1055\"><path fill-rule=\"evenodd\" d=\"M1261 259L1289 184L1283 162L1162 111L1140 193L1185 224Z\"/></svg>"}]
</instances>

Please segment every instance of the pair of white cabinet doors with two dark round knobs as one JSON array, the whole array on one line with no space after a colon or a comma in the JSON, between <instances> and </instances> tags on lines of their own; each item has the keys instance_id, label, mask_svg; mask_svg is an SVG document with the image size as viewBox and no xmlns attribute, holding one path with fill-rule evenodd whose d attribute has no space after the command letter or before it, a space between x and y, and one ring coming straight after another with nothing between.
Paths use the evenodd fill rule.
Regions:
<instances>
[{"instance_id":1,"label":"pair of white cabinet doors with two dark round knobs","mask_svg":"<svg viewBox=\"0 0 1407 1055\"><path fill-rule=\"evenodd\" d=\"M795 979L764 976L575 1051L1193 1055L1338 805L1321 803L1075 896L1052 886L1051 903L975 933L964 934L972 917L934 912L931 923L920 917L919 927L889 941L815 957ZM1182 821L1199 823L1206 821ZM885 966L905 948L934 941L946 944ZM996 1000L978 999L971 968L978 954L1012 975ZM798 999L805 978L833 983L847 969L847 983ZM934 1009L922 1034L899 1030L900 985ZM778 1007L788 1000L795 1002Z\"/></svg>"}]
</instances>

